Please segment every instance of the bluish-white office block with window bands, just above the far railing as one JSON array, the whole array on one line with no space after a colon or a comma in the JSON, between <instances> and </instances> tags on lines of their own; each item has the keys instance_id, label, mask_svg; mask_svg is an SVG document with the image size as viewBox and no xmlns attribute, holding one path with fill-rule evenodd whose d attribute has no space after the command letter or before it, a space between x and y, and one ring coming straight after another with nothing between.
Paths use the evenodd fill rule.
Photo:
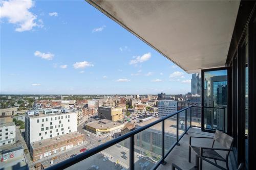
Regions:
<instances>
[{"instance_id":1,"label":"bluish-white office block with window bands, just above the far railing","mask_svg":"<svg viewBox=\"0 0 256 170\"><path fill-rule=\"evenodd\" d=\"M159 100L158 101L158 117L165 117L177 112L177 101Z\"/></svg>"}]
</instances>

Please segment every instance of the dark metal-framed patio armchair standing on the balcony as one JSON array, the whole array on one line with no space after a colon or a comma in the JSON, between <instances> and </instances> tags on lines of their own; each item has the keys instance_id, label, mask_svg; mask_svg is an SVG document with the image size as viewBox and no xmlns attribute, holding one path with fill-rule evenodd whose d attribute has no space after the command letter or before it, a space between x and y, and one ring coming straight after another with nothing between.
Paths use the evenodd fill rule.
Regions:
<instances>
[{"instance_id":1,"label":"dark metal-framed patio armchair standing on the balcony","mask_svg":"<svg viewBox=\"0 0 256 170\"><path fill-rule=\"evenodd\" d=\"M211 145L211 148L207 147L196 147L194 145L191 145L191 139L192 138L204 138L204 139L214 139ZM218 142L221 144L222 147L224 148L214 148L215 142ZM200 168L202 167L202 161L205 159L202 158L207 158L208 159L213 159L215 162L212 162L208 160L207 162L216 166L216 167L221 167L220 165L217 164L218 161L223 161L226 163L226 168L223 169L229 169L228 168L228 156L232 147L233 143L233 137L225 134L224 132L221 132L219 130L216 130L215 136L214 137L201 137L201 136L189 136L189 153L188 153L188 162L191 162L191 149L196 153L196 155L199 155L197 159L200 158ZM218 152L216 151L226 151L226 157L223 158Z\"/></svg>"}]
</instances>

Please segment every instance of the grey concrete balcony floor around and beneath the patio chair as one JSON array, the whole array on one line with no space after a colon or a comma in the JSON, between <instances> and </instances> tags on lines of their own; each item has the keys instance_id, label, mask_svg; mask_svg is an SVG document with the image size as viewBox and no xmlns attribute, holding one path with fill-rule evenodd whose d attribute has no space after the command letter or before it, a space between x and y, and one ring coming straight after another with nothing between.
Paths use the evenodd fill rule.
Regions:
<instances>
[{"instance_id":1,"label":"grey concrete balcony floor around and beneath the patio chair","mask_svg":"<svg viewBox=\"0 0 256 170\"><path fill-rule=\"evenodd\" d=\"M182 139L179 141L180 145L176 145L172 152L166 157L165 161L167 162L165 165L160 165L157 169L158 170L166 170L172 169L172 163L175 163L180 168L186 170L192 168L196 164L196 156L193 150L191 150L191 163L188 162L188 145L189 145L189 136L206 136L206 137L213 137L214 133L207 133L202 132L201 129L198 128L190 128L188 130L188 134L184 135ZM191 144L196 145L198 147L211 147L212 139L200 139L200 138L192 138ZM215 148L223 148L220 146L219 143L215 143ZM217 151L218 152L218 151ZM221 156L225 158L225 152L218 152ZM230 153L232 154L232 153ZM230 157L229 154L229 157ZM214 160L212 160L214 162ZM219 165L226 168L225 162L217 161ZM211 170L211 169L218 169L216 166L209 164L208 162L203 161L203 169ZM232 169L229 165L229 169Z\"/></svg>"}]
</instances>

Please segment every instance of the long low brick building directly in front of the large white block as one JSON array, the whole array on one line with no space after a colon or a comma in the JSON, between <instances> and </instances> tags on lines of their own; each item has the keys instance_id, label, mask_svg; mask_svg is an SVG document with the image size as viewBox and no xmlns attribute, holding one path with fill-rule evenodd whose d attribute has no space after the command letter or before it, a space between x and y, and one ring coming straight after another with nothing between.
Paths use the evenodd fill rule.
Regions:
<instances>
[{"instance_id":1,"label":"long low brick building directly in front of the large white block","mask_svg":"<svg viewBox=\"0 0 256 170\"><path fill-rule=\"evenodd\" d=\"M71 149L84 143L84 135L79 132L59 135L31 143L30 153L33 161Z\"/></svg>"}]
</instances>

